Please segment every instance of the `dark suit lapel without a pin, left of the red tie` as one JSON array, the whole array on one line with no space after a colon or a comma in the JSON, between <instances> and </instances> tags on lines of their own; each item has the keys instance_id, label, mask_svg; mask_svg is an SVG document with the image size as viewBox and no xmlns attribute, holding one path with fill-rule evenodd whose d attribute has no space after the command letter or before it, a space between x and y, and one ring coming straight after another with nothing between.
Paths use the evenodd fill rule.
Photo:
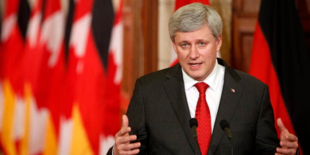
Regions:
<instances>
[{"instance_id":1,"label":"dark suit lapel without a pin, left of the red tie","mask_svg":"<svg viewBox=\"0 0 310 155\"><path fill-rule=\"evenodd\" d=\"M166 93L169 97L174 112L184 130L190 147L194 151L196 142L193 138L193 132L189 127L190 114L188 110L188 104L184 90L182 69L180 64L176 64L174 67L172 67L171 71L167 73L166 78L169 79L164 83Z\"/></svg>"}]
</instances>

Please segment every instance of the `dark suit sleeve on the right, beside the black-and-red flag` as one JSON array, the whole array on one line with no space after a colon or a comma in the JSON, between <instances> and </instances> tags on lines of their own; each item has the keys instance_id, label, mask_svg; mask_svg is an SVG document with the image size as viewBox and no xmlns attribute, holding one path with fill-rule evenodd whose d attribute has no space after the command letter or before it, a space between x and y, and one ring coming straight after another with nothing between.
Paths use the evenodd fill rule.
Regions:
<instances>
[{"instance_id":1,"label":"dark suit sleeve on the right, beside the black-and-red flag","mask_svg":"<svg viewBox=\"0 0 310 155\"><path fill-rule=\"evenodd\" d=\"M275 128L275 118L270 102L269 89L265 86L261 99L259 118L256 126L256 154L274 155L279 147L279 139Z\"/></svg>"}]
</instances>

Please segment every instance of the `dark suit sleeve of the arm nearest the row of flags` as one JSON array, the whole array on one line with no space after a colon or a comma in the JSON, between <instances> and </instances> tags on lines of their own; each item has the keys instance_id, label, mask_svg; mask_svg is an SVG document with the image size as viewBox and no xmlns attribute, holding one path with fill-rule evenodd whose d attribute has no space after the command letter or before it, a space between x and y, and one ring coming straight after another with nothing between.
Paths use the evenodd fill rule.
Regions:
<instances>
[{"instance_id":1,"label":"dark suit sleeve of the arm nearest the row of flags","mask_svg":"<svg viewBox=\"0 0 310 155\"><path fill-rule=\"evenodd\" d=\"M139 155L146 155L149 143L149 130L145 123L144 99L141 81L138 79L128 105L127 117L131 132L129 134L137 135L137 141L141 143ZM136 141L135 141L136 142Z\"/></svg>"}]
</instances>

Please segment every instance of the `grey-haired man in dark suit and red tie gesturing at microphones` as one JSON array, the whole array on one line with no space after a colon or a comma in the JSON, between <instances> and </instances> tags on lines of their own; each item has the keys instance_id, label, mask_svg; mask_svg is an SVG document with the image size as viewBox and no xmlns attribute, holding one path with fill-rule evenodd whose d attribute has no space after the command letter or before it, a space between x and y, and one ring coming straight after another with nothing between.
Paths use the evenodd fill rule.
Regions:
<instances>
[{"instance_id":1,"label":"grey-haired man in dark suit and red tie gesturing at microphones","mask_svg":"<svg viewBox=\"0 0 310 155\"><path fill-rule=\"evenodd\" d=\"M296 154L297 137L280 119L277 137L267 85L217 59L221 32L221 18L210 6L192 3L172 15L169 34L179 63L137 79L108 154L194 155L198 142L198 154L229 155L221 120L230 124L235 155ZM191 118L198 120L197 140Z\"/></svg>"}]
</instances>

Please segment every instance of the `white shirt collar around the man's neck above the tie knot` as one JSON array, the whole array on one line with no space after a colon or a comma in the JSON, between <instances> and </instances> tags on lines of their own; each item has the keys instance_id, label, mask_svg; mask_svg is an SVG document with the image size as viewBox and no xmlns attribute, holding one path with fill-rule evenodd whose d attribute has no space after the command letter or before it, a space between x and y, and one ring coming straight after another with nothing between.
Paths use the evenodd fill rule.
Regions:
<instances>
[{"instance_id":1,"label":"white shirt collar around the man's neck above the tie knot","mask_svg":"<svg viewBox=\"0 0 310 155\"><path fill-rule=\"evenodd\" d=\"M203 80L203 82L207 83L209 85L209 88L211 88L212 90L216 91L217 90L217 86L220 82L220 72L221 70L221 66L220 64L217 63L211 72L211 74ZM193 78L191 78L190 76L188 76L185 71L182 68L182 73L183 73L183 80L184 80L184 86L185 86L185 91L187 91L188 89L190 89L191 87L193 87L193 85L195 85L197 82L197 80L194 80Z\"/></svg>"}]
</instances>

